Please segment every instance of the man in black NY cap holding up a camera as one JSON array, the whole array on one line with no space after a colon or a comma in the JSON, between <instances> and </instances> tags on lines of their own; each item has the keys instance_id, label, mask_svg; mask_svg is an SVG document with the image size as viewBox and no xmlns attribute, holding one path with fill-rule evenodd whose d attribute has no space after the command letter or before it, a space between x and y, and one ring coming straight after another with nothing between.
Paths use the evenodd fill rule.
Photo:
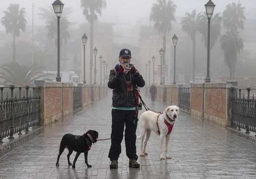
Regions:
<instances>
[{"instance_id":1,"label":"man in black NY cap holding up a camera","mask_svg":"<svg viewBox=\"0 0 256 179\"><path fill-rule=\"evenodd\" d=\"M137 115L135 111L136 97L134 88L145 86L145 81L132 64L132 68L123 63L131 62L131 51L122 49L119 54L119 64L110 70L108 87L113 89L112 96L112 131L111 146L108 157L110 169L118 168L118 158L121 154L121 142L125 126L125 148L129 158L129 167L139 168L136 161L136 128ZM127 65L128 66L128 65Z\"/></svg>"}]
</instances>

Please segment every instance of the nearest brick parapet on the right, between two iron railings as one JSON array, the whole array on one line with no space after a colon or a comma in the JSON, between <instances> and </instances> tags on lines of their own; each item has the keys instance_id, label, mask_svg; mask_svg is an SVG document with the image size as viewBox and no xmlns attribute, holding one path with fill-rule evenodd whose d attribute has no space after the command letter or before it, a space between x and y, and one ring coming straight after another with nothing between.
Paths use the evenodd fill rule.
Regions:
<instances>
[{"instance_id":1,"label":"nearest brick parapet on the right, between two iron railings","mask_svg":"<svg viewBox=\"0 0 256 179\"><path fill-rule=\"evenodd\" d=\"M203 116L222 126L231 125L232 97L237 82L191 84L191 114Z\"/></svg>"}]
</instances>

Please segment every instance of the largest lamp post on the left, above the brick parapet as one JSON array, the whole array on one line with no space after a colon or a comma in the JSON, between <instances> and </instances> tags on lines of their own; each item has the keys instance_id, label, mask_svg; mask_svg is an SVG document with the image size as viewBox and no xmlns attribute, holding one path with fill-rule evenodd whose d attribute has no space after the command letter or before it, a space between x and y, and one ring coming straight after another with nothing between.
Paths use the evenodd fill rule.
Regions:
<instances>
[{"instance_id":1,"label":"largest lamp post on the left, above the brick parapet","mask_svg":"<svg viewBox=\"0 0 256 179\"><path fill-rule=\"evenodd\" d=\"M62 10L64 7L64 4L60 1L60 0L56 0L52 3L52 7L54 10L55 15L57 16L57 47L58 47L58 61L57 61L57 66L58 66L58 72L57 72L57 77L56 77L56 81L60 82L61 81L61 77L59 75L59 67L60 67L60 61L59 61L59 52L60 52L60 46L59 46L59 18L62 14Z\"/></svg>"}]
</instances>

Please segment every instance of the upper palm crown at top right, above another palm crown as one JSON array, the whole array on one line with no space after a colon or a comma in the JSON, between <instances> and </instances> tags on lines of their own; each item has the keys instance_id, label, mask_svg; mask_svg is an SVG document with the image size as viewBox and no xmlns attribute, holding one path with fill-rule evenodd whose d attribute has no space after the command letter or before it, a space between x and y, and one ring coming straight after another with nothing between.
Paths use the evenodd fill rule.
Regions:
<instances>
[{"instance_id":1,"label":"upper palm crown at top right, above another palm crown","mask_svg":"<svg viewBox=\"0 0 256 179\"><path fill-rule=\"evenodd\" d=\"M242 7L240 1L236 4L232 2L226 5L226 9L223 11L223 25L224 28L237 32L238 29L244 30L245 7Z\"/></svg>"}]
</instances>

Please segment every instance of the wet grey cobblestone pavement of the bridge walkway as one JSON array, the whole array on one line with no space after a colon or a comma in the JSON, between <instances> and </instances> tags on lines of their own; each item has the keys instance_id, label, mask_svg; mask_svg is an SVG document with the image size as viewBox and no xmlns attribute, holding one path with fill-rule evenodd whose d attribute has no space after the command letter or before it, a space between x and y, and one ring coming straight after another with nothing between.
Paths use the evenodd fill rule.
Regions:
<instances>
[{"instance_id":1,"label":"wet grey cobblestone pavement of the bridge walkway","mask_svg":"<svg viewBox=\"0 0 256 179\"><path fill-rule=\"evenodd\" d=\"M143 96L143 99L155 111L167 107L158 101L151 103L148 97ZM82 135L89 129L97 130L99 139L110 137L111 92L74 115L2 147L0 178L256 178L254 139L182 111L169 143L172 159L159 159L159 137L152 133L147 146L149 155L138 158L139 169L128 167L123 141L119 168L110 170L110 140L98 141L92 146L88 153L88 163L92 168L86 167L82 154L76 162L76 169L68 166L67 149L56 167L62 136L65 133ZM140 140L136 145L138 153ZM74 157L75 152L70 157L71 162Z\"/></svg>"}]
</instances>

